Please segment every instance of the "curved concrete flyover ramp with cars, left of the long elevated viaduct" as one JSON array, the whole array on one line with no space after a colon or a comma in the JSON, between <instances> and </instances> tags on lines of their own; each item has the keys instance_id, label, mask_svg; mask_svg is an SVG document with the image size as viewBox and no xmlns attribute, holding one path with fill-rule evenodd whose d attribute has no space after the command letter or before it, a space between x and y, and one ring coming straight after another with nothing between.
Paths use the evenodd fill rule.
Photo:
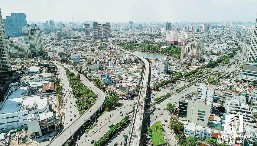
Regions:
<instances>
[{"instance_id":1,"label":"curved concrete flyover ramp with cars, left of the long elevated viaduct","mask_svg":"<svg viewBox=\"0 0 257 146\"><path fill-rule=\"evenodd\" d=\"M67 65L64 66L68 68ZM76 73L74 74L76 75ZM56 138L54 138L48 144L49 146L63 145L70 137L73 136L75 132L77 132L80 129L80 127L82 127L86 123L86 121L88 121L88 119L91 118L91 116L94 113L96 113L101 108L105 99L104 93L99 88L94 86L92 83L84 80L83 78L81 78L81 82L87 87L92 87L92 89L90 90L92 90L95 94L99 94L98 98L89 109L87 109L82 115L80 115L80 117L78 117L78 119L74 120L74 122L72 122L72 124L69 127L63 130L63 132L61 132L59 135L57 135ZM89 112L90 110L91 112Z\"/></svg>"}]
</instances>

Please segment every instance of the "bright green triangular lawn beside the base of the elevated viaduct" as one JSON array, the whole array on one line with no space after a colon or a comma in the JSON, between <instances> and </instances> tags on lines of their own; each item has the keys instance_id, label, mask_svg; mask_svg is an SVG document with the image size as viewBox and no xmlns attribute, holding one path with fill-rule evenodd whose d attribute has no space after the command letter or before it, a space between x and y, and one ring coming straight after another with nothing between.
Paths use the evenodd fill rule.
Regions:
<instances>
[{"instance_id":1,"label":"bright green triangular lawn beside the base of the elevated viaduct","mask_svg":"<svg viewBox=\"0 0 257 146\"><path fill-rule=\"evenodd\" d=\"M156 129L156 132L155 132L155 125L157 124L160 124L161 121L157 121L154 125L152 125L150 128L152 129L152 133L150 133L150 138L151 138L151 141L153 143L153 146L155 145L159 145L159 142L161 144L164 144L165 143L165 140L163 138L163 135L162 135L162 130L161 129Z\"/></svg>"}]
</instances>

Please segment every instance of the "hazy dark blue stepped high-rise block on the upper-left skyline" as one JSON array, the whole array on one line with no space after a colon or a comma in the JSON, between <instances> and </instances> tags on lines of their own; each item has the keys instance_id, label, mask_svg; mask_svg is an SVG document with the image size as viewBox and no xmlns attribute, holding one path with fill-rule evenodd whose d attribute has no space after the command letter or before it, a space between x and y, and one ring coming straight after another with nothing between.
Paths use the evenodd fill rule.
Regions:
<instances>
[{"instance_id":1,"label":"hazy dark blue stepped high-rise block on the upper-left skyline","mask_svg":"<svg viewBox=\"0 0 257 146\"><path fill-rule=\"evenodd\" d=\"M6 36L22 36L21 27L27 23L25 13L11 13L3 19Z\"/></svg>"}]
</instances>

